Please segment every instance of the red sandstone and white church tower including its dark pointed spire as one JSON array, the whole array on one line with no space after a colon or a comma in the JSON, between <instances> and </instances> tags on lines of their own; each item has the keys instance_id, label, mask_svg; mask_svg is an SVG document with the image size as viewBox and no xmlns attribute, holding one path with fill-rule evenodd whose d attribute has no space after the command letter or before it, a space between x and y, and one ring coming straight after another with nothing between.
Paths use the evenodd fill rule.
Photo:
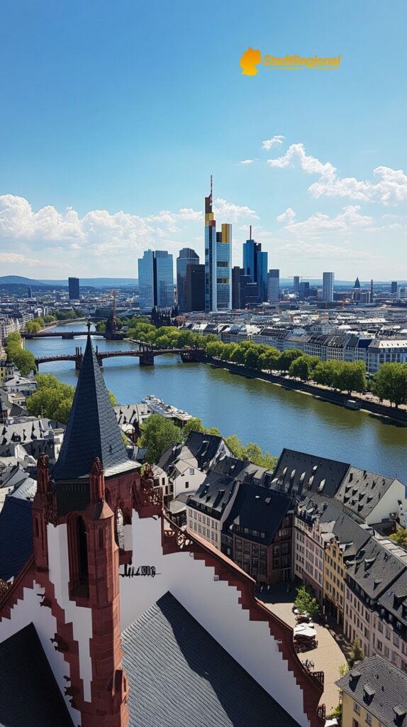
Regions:
<instances>
[{"instance_id":1,"label":"red sandstone and white church tower including its dark pointed spire","mask_svg":"<svg viewBox=\"0 0 407 727\"><path fill-rule=\"evenodd\" d=\"M119 564L129 562L140 465L128 459L88 335L59 458L38 460L34 559L44 606L57 619L54 643L67 662L65 696L81 727L127 727L121 665Z\"/></svg>"}]
</instances>

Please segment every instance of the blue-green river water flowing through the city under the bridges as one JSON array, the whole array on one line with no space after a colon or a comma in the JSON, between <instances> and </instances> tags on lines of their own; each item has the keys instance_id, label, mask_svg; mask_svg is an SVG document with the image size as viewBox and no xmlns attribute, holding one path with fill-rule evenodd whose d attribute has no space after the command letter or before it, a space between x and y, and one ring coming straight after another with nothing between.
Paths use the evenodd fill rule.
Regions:
<instances>
[{"instance_id":1,"label":"blue-green river water flowing through the city under the bridges","mask_svg":"<svg viewBox=\"0 0 407 727\"><path fill-rule=\"evenodd\" d=\"M85 324L54 330L83 330ZM94 337L99 350L137 348L125 341ZM75 353L85 340L33 339L25 342L36 357ZM138 358L113 358L102 369L107 388L119 403L136 403L155 394L167 403L200 417L225 436L258 442L278 455L283 447L331 457L407 483L407 427L364 411L349 411L310 395L287 391L257 379L245 379L207 364L182 364L179 356L158 356L155 366L139 366ZM75 385L73 361L42 364L40 372L55 374Z\"/></svg>"}]
</instances>

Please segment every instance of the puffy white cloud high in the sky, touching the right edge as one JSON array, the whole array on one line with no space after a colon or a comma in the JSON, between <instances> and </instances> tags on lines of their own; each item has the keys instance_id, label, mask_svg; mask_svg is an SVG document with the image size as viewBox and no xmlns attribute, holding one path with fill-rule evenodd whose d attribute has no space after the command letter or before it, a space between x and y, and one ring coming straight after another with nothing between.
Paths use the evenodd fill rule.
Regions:
<instances>
[{"instance_id":1,"label":"puffy white cloud high in the sky, touching the right edge","mask_svg":"<svg viewBox=\"0 0 407 727\"><path fill-rule=\"evenodd\" d=\"M407 201L407 174L403 169L377 166L374 180L357 180L355 177L339 177L331 162L323 164L315 156L305 153L303 144L292 144L286 153L276 159L268 159L269 166L285 169L299 164L306 174L319 174L317 182L308 188L311 196L318 198L350 197L358 201L400 204Z\"/></svg>"}]
</instances>

